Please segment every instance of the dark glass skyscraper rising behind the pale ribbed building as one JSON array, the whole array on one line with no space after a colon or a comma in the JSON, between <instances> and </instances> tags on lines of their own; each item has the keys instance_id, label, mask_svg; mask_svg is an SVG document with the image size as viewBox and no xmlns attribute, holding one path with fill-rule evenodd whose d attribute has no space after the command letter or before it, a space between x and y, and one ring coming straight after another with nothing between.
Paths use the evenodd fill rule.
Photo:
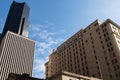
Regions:
<instances>
[{"instance_id":1,"label":"dark glass skyscraper rising behind the pale ribbed building","mask_svg":"<svg viewBox=\"0 0 120 80\"><path fill-rule=\"evenodd\" d=\"M29 27L28 22L29 11L30 8L25 2L18 3L14 1L10 7L6 19L6 23L2 32L2 38L7 33L7 31L11 31L27 37Z\"/></svg>"}]
</instances>

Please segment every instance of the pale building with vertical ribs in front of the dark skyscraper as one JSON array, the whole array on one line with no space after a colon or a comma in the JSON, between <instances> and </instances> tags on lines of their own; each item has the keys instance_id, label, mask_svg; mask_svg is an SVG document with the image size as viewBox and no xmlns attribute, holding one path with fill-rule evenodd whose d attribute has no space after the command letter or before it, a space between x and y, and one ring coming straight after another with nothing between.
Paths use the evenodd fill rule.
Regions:
<instances>
[{"instance_id":1,"label":"pale building with vertical ribs in front of the dark skyscraper","mask_svg":"<svg viewBox=\"0 0 120 80\"><path fill-rule=\"evenodd\" d=\"M9 73L32 76L35 42L8 31L0 46L0 80Z\"/></svg>"}]
</instances>

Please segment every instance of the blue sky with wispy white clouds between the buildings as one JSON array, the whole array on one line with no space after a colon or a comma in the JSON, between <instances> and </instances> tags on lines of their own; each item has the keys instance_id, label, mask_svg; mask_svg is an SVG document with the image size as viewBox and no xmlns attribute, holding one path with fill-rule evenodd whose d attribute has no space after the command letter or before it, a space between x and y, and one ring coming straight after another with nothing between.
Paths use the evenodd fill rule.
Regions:
<instances>
[{"instance_id":1,"label":"blue sky with wispy white clouds between the buildings","mask_svg":"<svg viewBox=\"0 0 120 80\"><path fill-rule=\"evenodd\" d=\"M13 0L0 1L0 32ZM30 7L29 37L36 41L33 76L44 78L44 63L53 49L99 19L120 24L120 0L15 0Z\"/></svg>"}]
</instances>

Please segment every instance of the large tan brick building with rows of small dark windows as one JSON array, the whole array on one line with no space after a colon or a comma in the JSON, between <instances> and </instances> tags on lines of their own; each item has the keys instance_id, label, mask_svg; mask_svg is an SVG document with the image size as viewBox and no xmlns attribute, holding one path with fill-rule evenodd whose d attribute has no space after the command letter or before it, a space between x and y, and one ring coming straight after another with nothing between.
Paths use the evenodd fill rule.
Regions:
<instances>
[{"instance_id":1,"label":"large tan brick building with rows of small dark windows","mask_svg":"<svg viewBox=\"0 0 120 80\"><path fill-rule=\"evenodd\" d=\"M103 80L120 79L120 26L110 19L81 29L49 56L46 79L67 71Z\"/></svg>"}]
</instances>

